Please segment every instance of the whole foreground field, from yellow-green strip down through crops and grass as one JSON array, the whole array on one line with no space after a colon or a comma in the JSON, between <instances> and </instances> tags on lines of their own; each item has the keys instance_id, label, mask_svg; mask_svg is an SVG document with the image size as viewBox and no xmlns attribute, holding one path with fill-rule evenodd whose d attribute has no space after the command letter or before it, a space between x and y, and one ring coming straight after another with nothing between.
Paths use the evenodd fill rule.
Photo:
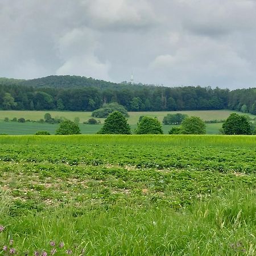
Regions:
<instances>
[{"instance_id":1,"label":"whole foreground field, from yellow-green strip down through crops and grass","mask_svg":"<svg viewBox=\"0 0 256 256\"><path fill-rule=\"evenodd\" d=\"M0 255L256 253L256 136L0 144Z\"/></svg>"}]
</instances>

